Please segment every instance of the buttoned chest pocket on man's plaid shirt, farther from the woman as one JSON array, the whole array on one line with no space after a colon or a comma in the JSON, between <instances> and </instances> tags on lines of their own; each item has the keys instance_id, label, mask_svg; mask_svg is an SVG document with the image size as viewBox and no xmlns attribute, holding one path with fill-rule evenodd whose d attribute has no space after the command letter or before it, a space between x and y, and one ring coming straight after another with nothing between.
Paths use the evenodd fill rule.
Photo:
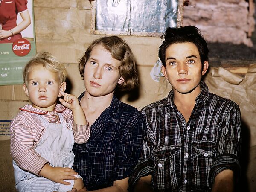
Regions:
<instances>
[{"instance_id":1,"label":"buttoned chest pocket on man's plaid shirt, farther from the woman","mask_svg":"<svg viewBox=\"0 0 256 192\"><path fill-rule=\"evenodd\" d=\"M215 141L198 141L192 145L192 165L197 190L210 189L209 171L212 165Z\"/></svg>"}]
</instances>

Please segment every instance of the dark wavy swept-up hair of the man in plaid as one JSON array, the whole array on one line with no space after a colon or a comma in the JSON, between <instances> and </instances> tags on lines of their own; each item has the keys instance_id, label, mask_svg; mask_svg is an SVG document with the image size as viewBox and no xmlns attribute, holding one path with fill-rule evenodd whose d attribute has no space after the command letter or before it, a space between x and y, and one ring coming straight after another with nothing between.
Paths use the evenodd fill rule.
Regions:
<instances>
[{"instance_id":1,"label":"dark wavy swept-up hair of the man in plaid","mask_svg":"<svg viewBox=\"0 0 256 192\"><path fill-rule=\"evenodd\" d=\"M165 55L166 49L169 45L177 44L177 43L186 43L190 42L195 44L198 48L198 52L200 55L201 64L204 61L208 61L208 47L207 43L201 35L200 30L195 26L180 26L177 28L169 27L164 32L162 38L164 41L162 45L160 45L158 50L158 56L163 63L163 66L166 66Z\"/></svg>"}]
</instances>

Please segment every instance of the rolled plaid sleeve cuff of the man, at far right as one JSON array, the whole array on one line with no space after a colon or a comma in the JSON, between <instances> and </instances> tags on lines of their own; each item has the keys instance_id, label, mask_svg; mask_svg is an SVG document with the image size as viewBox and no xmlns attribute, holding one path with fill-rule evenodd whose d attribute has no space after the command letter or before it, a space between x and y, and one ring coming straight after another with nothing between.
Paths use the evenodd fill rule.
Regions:
<instances>
[{"instance_id":1,"label":"rolled plaid sleeve cuff of the man, at far right","mask_svg":"<svg viewBox=\"0 0 256 192\"><path fill-rule=\"evenodd\" d=\"M216 157L212 163L212 167L209 172L210 185L214 183L216 175L225 169L230 169L234 172L235 180L238 180L241 174L241 167L239 161L237 160L236 155L233 154L223 154Z\"/></svg>"}]
</instances>

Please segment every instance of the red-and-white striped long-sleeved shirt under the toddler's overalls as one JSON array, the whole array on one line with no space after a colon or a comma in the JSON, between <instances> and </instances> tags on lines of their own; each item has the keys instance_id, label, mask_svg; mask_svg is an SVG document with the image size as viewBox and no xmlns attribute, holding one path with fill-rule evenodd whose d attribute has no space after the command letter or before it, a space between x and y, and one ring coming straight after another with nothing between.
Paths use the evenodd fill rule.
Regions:
<instances>
[{"instance_id":1,"label":"red-and-white striped long-sleeved shirt under the toddler's overalls","mask_svg":"<svg viewBox=\"0 0 256 192\"><path fill-rule=\"evenodd\" d=\"M49 123L60 123L58 113L61 113L64 122L69 122L73 126L76 143L81 144L89 140L89 126L73 123L72 111L61 104L57 104L54 111L43 111L32 105L25 105L19 109L20 113L12 119L10 125L11 155L17 165L25 171L38 175L45 163L48 163L35 152L35 146L45 132L44 125L36 114L43 115Z\"/></svg>"}]
</instances>

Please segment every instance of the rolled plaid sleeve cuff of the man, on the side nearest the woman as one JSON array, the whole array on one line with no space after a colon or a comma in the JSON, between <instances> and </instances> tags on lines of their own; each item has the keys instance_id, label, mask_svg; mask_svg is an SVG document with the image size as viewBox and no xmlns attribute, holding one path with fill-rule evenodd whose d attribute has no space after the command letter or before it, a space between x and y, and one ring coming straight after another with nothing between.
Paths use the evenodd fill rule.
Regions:
<instances>
[{"instance_id":1,"label":"rolled plaid sleeve cuff of the man, on the side nearest the woman","mask_svg":"<svg viewBox=\"0 0 256 192\"><path fill-rule=\"evenodd\" d=\"M134 190L135 184L140 180L140 177L145 177L147 175L153 175L154 172L154 162L151 159L146 159L140 161L134 168L134 172L129 178L128 191L132 192Z\"/></svg>"}]
</instances>

